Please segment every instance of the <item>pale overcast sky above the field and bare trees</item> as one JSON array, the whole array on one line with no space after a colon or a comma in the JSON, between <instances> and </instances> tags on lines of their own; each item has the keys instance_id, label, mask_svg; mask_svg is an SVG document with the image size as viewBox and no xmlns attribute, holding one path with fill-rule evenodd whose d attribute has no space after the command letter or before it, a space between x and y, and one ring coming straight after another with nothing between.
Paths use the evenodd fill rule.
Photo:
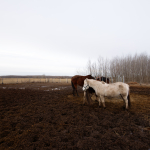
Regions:
<instances>
[{"instance_id":1,"label":"pale overcast sky above the field and bare trees","mask_svg":"<svg viewBox=\"0 0 150 150\"><path fill-rule=\"evenodd\" d=\"M75 75L150 54L150 0L0 0L0 75Z\"/></svg>"}]
</instances>

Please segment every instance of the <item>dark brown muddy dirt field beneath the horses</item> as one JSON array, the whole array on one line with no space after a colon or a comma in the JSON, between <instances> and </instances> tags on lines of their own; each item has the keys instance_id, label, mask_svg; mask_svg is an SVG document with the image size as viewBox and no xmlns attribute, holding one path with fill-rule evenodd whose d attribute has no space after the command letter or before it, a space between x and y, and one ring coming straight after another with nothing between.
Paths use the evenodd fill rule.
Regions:
<instances>
[{"instance_id":1,"label":"dark brown muddy dirt field beneath the horses","mask_svg":"<svg viewBox=\"0 0 150 150\"><path fill-rule=\"evenodd\" d=\"M0 85L0 150L150 150L150 87L131 85L131 108L82 105L67 83Z\"/></svg>"}]
</instances>

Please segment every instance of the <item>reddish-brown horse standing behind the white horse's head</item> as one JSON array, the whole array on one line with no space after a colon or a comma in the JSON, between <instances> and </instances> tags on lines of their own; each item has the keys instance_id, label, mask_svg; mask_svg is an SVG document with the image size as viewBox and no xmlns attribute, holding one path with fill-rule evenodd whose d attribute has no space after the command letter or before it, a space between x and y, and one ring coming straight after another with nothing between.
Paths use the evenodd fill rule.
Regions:
<instances>
[{"instance_id":1,"label":"reddish-brown horse standing behind the white horse's head","mask_svg":"<svg viewBox=\"0 0 150 150\"><path fill-rule=\"evenodd\" d=\"M84 80L88 78L88 79L94 79L94 77L92 77L91 75L87 75L87 76L81 76L81 75L75 75L71 78L71 85L73 88L73 95L75 96L74 92L76 91L77 95L77 85L82 86L84 84ZM79 95L78 95L79 96Z\"/></svg>"}]
</instances>

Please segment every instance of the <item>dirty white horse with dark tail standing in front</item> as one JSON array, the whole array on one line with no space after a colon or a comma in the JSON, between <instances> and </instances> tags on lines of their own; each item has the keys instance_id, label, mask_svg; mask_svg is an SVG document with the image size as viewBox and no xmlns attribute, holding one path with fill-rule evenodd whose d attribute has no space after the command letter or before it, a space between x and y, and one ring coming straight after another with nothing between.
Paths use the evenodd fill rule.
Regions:
<instances>
[{"instance_id":1,"label":"dirty white horse with dark tail standing in front","mask_svg":"<svg viewBox=\"0 0 150 150\"><path fill-rule=\"evenodd\" d=\"M113 84L107 84L105 82L96 81L93 79L85 79L83 85L83 91L86 91L89 87L92 87L95 90L96 95L98 96L99 106L101 102L103 107L105 107L104 96L108 97L118 97L125 102L125 108L128 109L130 106L130 95L129 95L129 85L123 82L116 82Z\"/></svg>"}]
</instances>

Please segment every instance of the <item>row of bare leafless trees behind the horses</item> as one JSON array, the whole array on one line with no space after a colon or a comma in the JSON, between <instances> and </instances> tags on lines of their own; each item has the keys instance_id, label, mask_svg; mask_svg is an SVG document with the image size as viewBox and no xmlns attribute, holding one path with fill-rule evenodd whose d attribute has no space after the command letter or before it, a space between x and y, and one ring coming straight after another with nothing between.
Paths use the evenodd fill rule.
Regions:
<instances>
[{"instance_id":1,"label":"row of bare leafless trees behind the horses","mask_svg":"<svg viewBox=\"0 0 150 150\"><path fill-rule=\"evenodd\" d=\"M97 61L88 61L78 74L91 74L95 77L124 78L125 82L150 83L150 56L146 53L114 57L111 60L99 56Z\"/></svg>"}]
</instances>

